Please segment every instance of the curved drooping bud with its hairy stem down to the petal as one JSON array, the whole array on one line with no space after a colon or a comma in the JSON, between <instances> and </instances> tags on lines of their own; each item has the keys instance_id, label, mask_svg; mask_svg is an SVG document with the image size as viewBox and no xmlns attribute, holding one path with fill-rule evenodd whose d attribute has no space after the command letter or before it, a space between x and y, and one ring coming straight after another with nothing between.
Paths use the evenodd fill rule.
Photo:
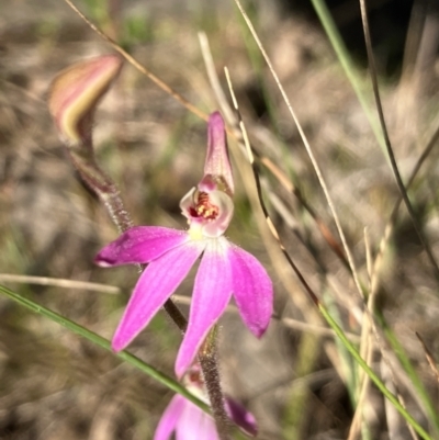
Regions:
<instances>
[{"instance_id":1,"label":"curved drooping bud with its hairy stem down to the petal","mask_svg":"<svg viewBox=\"0 0 439 440\"><path fill-rule=\"evenodd\" d=\"M82 180L102 200L120 232L133 226L117 187L99 167L92 144L94 110L122 68L116 55L75 64L52 82L48 106Z\"/></svg>"}]
</instances>

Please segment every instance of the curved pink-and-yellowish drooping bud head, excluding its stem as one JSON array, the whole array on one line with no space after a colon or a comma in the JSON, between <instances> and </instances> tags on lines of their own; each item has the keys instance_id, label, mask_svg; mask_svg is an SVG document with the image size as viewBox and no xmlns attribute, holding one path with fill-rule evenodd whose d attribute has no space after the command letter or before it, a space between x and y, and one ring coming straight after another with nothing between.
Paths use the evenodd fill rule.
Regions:
<instances>
[{"instance_id":1,"label":"curved pink-and-yellowish drooping bud head, excluding its stem","mask_svg":"<svg viewBox=\"0 0 439 440\"><path fill-rule=\"evenodd\" d=\"M103 55L63 70L52 82L48 106L68 145L91 146L93 113L122 68L116 55Z\"/></svg>"}]
</instances>

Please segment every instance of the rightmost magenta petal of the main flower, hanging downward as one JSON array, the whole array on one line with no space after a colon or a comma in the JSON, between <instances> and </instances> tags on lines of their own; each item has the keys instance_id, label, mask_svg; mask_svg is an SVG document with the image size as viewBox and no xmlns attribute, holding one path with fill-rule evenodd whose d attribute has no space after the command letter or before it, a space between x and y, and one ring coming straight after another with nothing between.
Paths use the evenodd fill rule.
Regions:
<instances>
[{"instance_id":1,"label":"rightmost magenta petal of the main flower, hanging downward","mask_svg":"<svg viewBox=\"0 0 439 440\"><path fill-rule=\"evenodd\" d=\"M240 316L258 338L263 335L273 309L273 285L262 264L250 253L229 247L233 292Z\"/></svg>"}]
</instances>

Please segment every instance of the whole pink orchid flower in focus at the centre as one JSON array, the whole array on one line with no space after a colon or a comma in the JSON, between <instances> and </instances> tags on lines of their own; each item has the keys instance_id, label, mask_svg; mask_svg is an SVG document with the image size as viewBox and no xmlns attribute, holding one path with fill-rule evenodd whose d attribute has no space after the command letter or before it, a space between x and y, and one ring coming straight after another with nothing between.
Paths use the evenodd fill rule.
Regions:
<instances>
[{"instance_id":1,"label":"whole pink orchid flower in focus at the centre","mask_svg":"<svg viewBox=\"0 0 439 440\"><path fill-rule=\"evenodd\" d=\"M232 295L246 326L262 336L272 313L272 283L254 256L223 236L233 216L233 192L224 122L215 112L209 120L204 177L180 202L189 230L133 227L97 256L103 267L148 263L115 331L114 351L123 350L147 326L200 257L188 329L176 361L177 376L192 364Z\"/></svg>"}]
</instances>

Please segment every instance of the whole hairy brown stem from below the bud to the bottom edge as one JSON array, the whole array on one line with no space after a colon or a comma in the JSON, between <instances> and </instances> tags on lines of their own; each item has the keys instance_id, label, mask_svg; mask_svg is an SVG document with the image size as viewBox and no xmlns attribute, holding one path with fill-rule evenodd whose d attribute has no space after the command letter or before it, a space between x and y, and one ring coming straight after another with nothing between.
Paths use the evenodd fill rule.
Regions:
<instances>
[{"instance_id":1,"label":"whole hairy brown stem from below the bud to the bottom edge","mask_svg":"<svg viewBox=\"0 0 439 440\"><path fill-rule=\"evenodd\" d=\"M87 144L89 144L89 146L82 145L81 147L67 147L71 162L82 180L102 201L119 232L124 233L133 226L133 221L124 207L117 187L95 162L93 149L91 148L91 139L88 139ZM139 266L139 269L143 271L145 267ZM167 300L164 304L164 308L181 332L184 334L188 320L172 300ZM224 408L224 397L221 388L219 372L216 361L215 337L212 336L214 334L216 334L216 331L213 330L210 336L207 336L206 340L209 342L200 354L200 364L219 439L229 440L228 417Z\"/></svg>"}]
</instances>

